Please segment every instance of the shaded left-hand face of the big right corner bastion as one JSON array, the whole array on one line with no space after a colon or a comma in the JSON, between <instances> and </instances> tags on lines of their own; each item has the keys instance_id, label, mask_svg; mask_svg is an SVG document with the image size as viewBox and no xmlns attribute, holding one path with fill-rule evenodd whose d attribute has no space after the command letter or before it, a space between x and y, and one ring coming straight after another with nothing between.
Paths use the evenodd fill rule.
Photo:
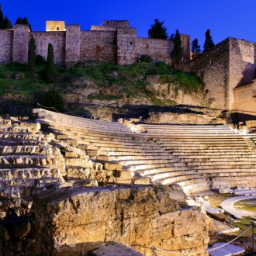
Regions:
<instances>
[{"instance_id":1,"label":"shaded left-hand face of the big right corner bastion","mask_svg":"<svg viewBox=\"0 0 256 256\"><path fill-rule=\"evenodd\" d=\"M211 107L230 109L229 93L229 39L224 40L209 52L200 54L184 66L185 71L195 71L206 85Z\"/></svg>"}]
</instances>

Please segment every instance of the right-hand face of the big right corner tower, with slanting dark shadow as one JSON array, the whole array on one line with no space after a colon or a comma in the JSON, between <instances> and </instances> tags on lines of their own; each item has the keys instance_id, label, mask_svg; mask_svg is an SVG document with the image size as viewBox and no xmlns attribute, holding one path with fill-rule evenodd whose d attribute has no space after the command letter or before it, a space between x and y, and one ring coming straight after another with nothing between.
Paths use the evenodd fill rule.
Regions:
<instances>
[{"instance_id":1,"label":"right-hand face of the big right corner tower, with slanting dark shadow","mask_svg":"<svg viewBox=\"0 0 256 256\"><path fill-rule=\"evenodd\" d=\"M255 78L255 43L244 40L230 39L230 76L229 76L229 106L230 109L244 108L234 99L234 88L248 85ZM239 91L239 90L238 90ZM251 95L247 99L251 102Z\"/></svg>"}]
</instances>

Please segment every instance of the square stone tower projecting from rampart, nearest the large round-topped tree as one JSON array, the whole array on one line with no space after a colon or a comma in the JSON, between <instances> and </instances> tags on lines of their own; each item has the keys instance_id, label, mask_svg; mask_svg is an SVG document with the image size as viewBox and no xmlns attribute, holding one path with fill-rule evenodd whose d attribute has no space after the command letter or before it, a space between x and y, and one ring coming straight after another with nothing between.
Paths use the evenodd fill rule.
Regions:
<instances>
[{"instance_id":1,"label":"square stone tower projecting from rampart, nearest the large round-topped tree","mask_svg":"<svg viewBox=\"0 0 256 256\"><path fill-rule=\"evenodd\" d=\"M133 64L137 61L137 29L117 29L117 64Z\"/></svg>"}]
</instances>

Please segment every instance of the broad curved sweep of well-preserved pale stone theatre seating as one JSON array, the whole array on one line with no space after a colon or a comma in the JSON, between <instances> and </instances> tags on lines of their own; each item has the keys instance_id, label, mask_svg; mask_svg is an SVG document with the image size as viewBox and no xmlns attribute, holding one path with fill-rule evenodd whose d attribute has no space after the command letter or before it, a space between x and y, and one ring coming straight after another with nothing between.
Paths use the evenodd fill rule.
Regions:
<instances>
[{"instance_id":1,"label":"broad curved sweep of well-preserved pale stone theatre seating","mask_svg":"<svg viewBox=\"0 0 256 256\"><path fill-rule=\"evenodd\" d=\"M256 187L255 134L236 134L227 125L126 126L34 109L47 123L81 148L117 182L179 184L191 193L222 187Z\"/></svg>"}]
</instances>

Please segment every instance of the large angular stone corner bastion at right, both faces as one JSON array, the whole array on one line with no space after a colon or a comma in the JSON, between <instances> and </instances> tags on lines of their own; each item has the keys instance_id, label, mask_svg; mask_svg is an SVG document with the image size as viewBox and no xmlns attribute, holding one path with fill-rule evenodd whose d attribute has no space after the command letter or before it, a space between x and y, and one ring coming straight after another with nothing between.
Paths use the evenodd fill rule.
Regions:
<instances>
[{"instance_id":1,"label":"large angular stone corner bastion at right, both faces","mask_svg":"<svg viewBox=\"0 0 256 256\"><path fill-rule=\"evenodd\" d=\"M234 90L255 78L255 67L255 43L234 38L185 64L186 71L195 71L205 82L211 106L227 110L242 108ZM251 101L251 96L247 100Z\"/></svg>"}]
</instances>

